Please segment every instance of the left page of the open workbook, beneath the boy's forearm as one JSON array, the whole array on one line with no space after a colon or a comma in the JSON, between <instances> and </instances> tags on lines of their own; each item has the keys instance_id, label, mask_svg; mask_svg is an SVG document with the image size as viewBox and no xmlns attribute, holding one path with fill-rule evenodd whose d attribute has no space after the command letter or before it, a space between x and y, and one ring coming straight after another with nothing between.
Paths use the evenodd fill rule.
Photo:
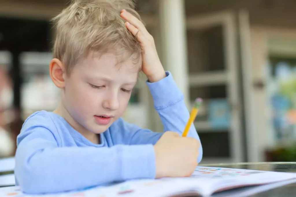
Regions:
<instances>
[{"instance_id":1,"label":"left page of the open workbook, beneath the boy's forearm","mask_svg":"<svg viewBox=\"0 0 296 197\"><path fill-rule=\"evenodd\" d=\"M191 185L191 187L195 187ZM190 185L180 180L131 180L109 186L58 194L27 195L19 187L0 188L1 197L163 197L186 193ZM195 191L195 190L194 190ZM193 192L194 192L193 191Z\"/></svg>"}]
</instances>

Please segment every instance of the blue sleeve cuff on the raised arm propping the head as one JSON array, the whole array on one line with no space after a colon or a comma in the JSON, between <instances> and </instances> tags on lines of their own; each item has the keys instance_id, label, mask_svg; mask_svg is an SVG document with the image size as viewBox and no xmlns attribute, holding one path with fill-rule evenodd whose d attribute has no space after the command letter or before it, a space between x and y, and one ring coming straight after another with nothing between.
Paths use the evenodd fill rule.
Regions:
<instances>
[{"instance_id":1,"label":"blue sleeve cuff on the raised arm propping the head","mask_svg":"<svg viewBox=\"0 0 296 197\"><path fill-rule=\"evenodd\" d=\"M166 77L158 82L146 82L153 97L155 108L164 108L184 98L172 74L169 71L165 73Z\"/></svg>"}]
</instances>

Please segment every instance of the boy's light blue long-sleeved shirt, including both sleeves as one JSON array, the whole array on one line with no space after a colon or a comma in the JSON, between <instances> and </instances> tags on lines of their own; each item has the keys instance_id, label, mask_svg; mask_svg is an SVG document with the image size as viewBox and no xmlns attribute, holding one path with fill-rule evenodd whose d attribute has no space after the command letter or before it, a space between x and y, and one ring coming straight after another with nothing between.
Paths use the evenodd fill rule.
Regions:
<instances>
[{"instance_id":1,"label":"boy's light blue long-sleeved shirt, including both sleeves","mask_svg":"<svg viewBox=\"0 0 296 197\"><path fill-rule=\"evenodd\" d=\"M159 82L146 82L164 131L183 132L189 119L183 93L170 72ZM93 144L61 116L47 111L30 115L17 137L16 185L25 193L52 193L135 178L155 178L153 145L163 133L122 118ZM199 139L192 125L187 135ZM199 148L198 162L202 159Z\"/></svg>"}]
</instances>

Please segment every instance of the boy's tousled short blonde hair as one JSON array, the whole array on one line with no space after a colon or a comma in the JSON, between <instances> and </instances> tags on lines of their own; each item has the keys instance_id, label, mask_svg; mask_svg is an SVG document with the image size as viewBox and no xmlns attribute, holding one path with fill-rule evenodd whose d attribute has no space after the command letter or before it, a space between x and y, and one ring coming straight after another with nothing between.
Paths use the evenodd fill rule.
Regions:
<instances>
[{"instance_id":1,"label":"boy's tousled short blonde hair","mask_svg":"<svg viewBox=\"0 0 296 197\"><path fill-rule=\"evenodd\" d=\"M126 29L122 9L141 20L134 0L72 0L52 19L56 26L53 57L63 62L66 73L91 51L141 61L140 44Z\"/></svg>"}]
</instances>

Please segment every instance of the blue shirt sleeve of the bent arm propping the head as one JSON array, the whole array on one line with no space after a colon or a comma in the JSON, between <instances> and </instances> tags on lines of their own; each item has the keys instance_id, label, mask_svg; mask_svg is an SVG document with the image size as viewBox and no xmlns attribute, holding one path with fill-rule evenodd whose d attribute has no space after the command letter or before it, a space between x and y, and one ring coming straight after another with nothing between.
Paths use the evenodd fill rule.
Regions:
<instances>
[{"instance_id":1,"label":"blue shirt sleeve of the bent arm propping the head","mask_svg":"<svg viewBox=\"0 0 296 197\"><path fill-rule=\"evenodd\" d=\"M189 111L184 102L184 95L178 88L170 72L167 76L158 82L146 82L154 101L154 108L160 116L165 131L174 131L182 135L189 120ZM118 126L123 130L123 139L127 139L128 144L155 144L163 132L153 132L149 129L143 129L135 124L125 122L122 118L118 120ZM113 134L113 139L118 135ZM117 136L118 137L118 136ZM192 125L187 134L200 141L197 131ZM199 147L198 163L202 159L202 145Z\"/></svg>"}]
</instances>

